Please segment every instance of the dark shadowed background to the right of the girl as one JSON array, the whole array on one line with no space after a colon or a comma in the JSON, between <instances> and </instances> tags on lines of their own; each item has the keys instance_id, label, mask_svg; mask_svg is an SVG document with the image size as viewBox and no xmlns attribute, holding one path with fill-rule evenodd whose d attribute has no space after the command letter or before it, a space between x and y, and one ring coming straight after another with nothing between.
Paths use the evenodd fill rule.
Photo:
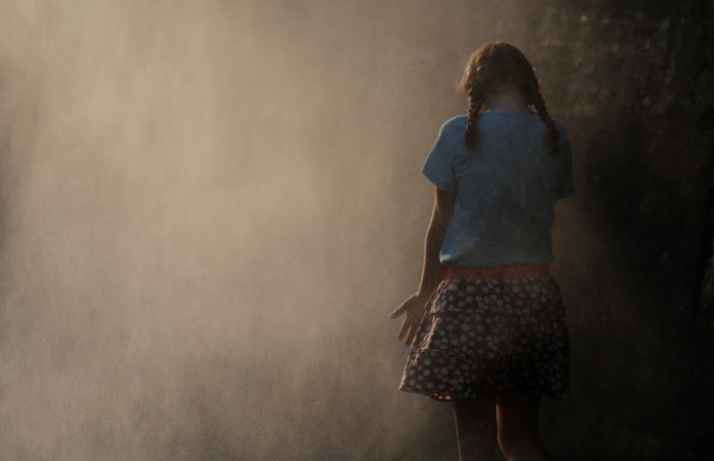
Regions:
<instances>
[{"instance_id":1,"label":"dark shadowed background to the right of the girl","mask_svg":"<svg viewBox=\"0 0 714 461\"><path fill-rule=\"evenodd\" d=\"M547 414L548 437L562 459L710 459L712 4L576 2L532 18L527 51L560 82L546 101L577 147L556 264L573 394Z\"/></svg>"}]
</instances>

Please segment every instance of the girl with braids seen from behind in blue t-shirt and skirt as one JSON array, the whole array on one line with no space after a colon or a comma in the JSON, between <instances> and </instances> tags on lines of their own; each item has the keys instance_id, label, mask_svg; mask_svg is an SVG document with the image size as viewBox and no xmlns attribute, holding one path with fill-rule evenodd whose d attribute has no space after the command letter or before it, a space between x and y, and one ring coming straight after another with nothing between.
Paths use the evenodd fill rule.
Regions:
<instances>
[{"instance_id":1,"label":"girl with braids seen from behind in blue t-shirt and skirt","mask_svg":"<svg viewBox=\"0 0 714 461\"><path fill-rule=\"evenodd\" d=\"M422 172L436 186L419 290L398 339L401 390L451 402L461 460L549 459L540 398L568 392L568 330L550 276L555 202L573 194L569 141L526 57L507 43L471 55L467 116L444 123Z\"/></svg>"}]
</instances>

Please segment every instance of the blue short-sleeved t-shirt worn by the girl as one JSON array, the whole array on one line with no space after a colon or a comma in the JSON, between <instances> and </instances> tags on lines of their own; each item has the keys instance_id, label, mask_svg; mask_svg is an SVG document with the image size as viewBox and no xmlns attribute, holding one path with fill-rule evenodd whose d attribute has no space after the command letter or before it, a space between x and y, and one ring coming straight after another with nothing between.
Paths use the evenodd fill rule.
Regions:
<instances>
[{"instance_id":1,"label":"blue short-sleeved t-shirt worn by the girl","mask_svg":"<svg viewBox=\"0 0 714 461\"><path fill-rule=\"evenodd\" d=\"M466 117L444 123L421 171L455 192L443 264L490 266L552 261L555 201L574 193L572 154L560 122L560 152L537 114L490 109L478 116L477 147L464 142Z\"/></svg>"}]
</instances>

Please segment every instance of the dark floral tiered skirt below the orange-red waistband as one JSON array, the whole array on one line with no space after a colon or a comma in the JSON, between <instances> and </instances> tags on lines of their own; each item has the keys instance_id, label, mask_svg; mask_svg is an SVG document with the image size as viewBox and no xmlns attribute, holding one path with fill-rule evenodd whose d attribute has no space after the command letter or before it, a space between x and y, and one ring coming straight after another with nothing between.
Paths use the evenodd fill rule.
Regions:
<instances>
[{"instance_id":1,"label":"dark floral tiered skirt below the orange-red waistband","mask_svg":"<svg viewBox=\"0 0 714 461\"><path fill-rule=\"evenodd\" d=\"M399 389L445 401L505 390L561 398L568 360L552 277L446 280L428 303Z\"/></svg>"}]
</instances>

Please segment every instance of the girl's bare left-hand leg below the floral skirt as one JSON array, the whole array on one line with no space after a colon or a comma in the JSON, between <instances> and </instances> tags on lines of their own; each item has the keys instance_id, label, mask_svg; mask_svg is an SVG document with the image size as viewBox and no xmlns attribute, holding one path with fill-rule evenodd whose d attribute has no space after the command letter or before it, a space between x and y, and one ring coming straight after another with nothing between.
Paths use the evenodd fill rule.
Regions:
<instances>
[{"instance_id":1,"label":"girl's bare left-hand leg below the floral skirt","mask_svg":"<svg viewBox=\"0 0 714 461\"><path fill-rule=\"evenodd\" d=\"M453 401L461 461L493 461L496 447L495 406L495 396Z\"/></svg>"}]
</instances>

